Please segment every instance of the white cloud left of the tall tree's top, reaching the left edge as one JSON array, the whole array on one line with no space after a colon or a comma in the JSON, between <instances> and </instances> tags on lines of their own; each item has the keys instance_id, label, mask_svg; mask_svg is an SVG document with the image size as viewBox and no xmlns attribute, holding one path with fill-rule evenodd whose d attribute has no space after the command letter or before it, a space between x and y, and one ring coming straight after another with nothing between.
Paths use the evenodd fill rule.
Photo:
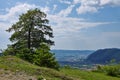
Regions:
<instances>
[{"instance_id":1,"label":"white cloud left of the tall tree's top, reaching the left edge","mask_svg":"<svg viewBox=\"0 0 120 80\"><path fill-rule=\"evenodd\" d=\"M25 13L27 10L33 9L35 7L36 7L35 5L29 5L26 3L24 3L24 4L19 3L12 8L7 8L6 9L7 14L0 15L0 20L9 21L9 22L13 23L17 20L17 18L20 14Z\"/></svg>"}]
</instances>

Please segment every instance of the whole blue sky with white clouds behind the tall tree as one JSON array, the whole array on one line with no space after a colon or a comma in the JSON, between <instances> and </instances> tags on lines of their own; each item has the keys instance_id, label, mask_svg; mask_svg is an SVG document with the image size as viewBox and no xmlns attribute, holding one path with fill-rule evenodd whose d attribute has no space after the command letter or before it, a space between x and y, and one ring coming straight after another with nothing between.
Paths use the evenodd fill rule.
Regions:
<instances>
[{"instance_id":1,"label":"whole blue sky with white clouds behind the tall tree","mask_svg":"<svg viewBox=\"0 0 120 80\"><path fill-rule=\"evenodd\" d=\"M52 49L120 48L120 0L1 0L0 49L19 15L39 8L54 30Z\"/></svg>"}]
</instances>

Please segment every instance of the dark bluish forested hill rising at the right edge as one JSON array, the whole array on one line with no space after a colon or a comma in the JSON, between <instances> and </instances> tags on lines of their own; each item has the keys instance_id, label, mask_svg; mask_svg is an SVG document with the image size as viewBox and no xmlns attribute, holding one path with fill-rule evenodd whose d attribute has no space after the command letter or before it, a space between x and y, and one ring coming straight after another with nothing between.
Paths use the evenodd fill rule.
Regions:
<instances>
[{"instance_id":1,"label":"dark bluish forested hill rising at the right edge","mask_svg":"<svg viewBox=\"0 0 120 80\"><path fill-rule=\"evenodd\" d=\"M87 62L94 64L106 64L113 62L120 62L120 49L111 48L111 49L100 49L90 54L87 59Z\"/></svg>"}]
</instances>

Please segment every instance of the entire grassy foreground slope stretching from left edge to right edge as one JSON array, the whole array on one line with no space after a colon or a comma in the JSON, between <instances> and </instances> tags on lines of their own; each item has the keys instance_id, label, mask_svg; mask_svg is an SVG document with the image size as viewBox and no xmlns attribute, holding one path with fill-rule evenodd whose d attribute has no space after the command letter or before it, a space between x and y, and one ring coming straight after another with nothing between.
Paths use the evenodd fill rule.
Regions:
<instances>
[{"instance_id":1,"label":"entire grassy foreground slope stretching from left edge to right edge","mask_svg":"<svg viewBox=\"0 0 120 80\"><path fill-rule=\"evenodd\" d=\"M10 77L31 77L32 80L37 80L38 77L43 76L46 80L120 80L117 77L110 77L102 73L95 73L90 71L81 71L78 69L64 69L56 71L44 67L35 66L24 60L21 60L13 56L0 57L0 79L1 74L9 74ZM15 74L20 74L15 75ZM14 75L12 75L14 74ZM2 75L2 77L8 77ZM70 76L70 77L68 77ZM24 78L19 80L29 80L30 78ZM18 79L2 79L2 80L18 80Z\"/></svg>"}]
</instances>

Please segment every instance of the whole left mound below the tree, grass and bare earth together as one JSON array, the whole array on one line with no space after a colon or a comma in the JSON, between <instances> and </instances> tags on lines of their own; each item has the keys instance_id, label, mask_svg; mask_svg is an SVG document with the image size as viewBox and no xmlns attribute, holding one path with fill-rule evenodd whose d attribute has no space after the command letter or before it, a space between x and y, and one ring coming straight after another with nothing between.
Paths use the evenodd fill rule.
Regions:
<instances>
[{"instance_id":1,"label":"whole left mound below the tree, grass and bare earth together","mask_svg":"<svg viewBox=\"0 0 120 80\"><path fill-rule=\"evenodd\" d=\"M59 71L39 67L13 56L0 57L0 80L74 80Z\"/></svg>"}]
</instances>

